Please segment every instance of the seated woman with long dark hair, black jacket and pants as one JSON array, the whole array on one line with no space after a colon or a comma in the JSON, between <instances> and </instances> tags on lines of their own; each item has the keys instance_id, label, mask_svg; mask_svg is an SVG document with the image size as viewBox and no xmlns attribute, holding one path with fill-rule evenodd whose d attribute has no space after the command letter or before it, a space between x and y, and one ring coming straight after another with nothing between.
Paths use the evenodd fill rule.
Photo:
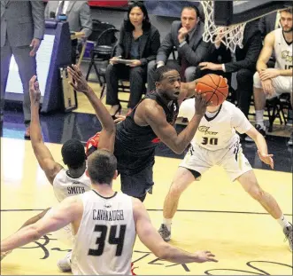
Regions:
<instances>
[{"instance_id":1,"label":"seated woman with long dark hair, black jacket and pants","mask_svg":"<svg viewBox=\"0 0 293 276\"><path fill-rule=\"evenodd\" d=\"M113 118L116 114L120 114L121 110L118 99L119 79L129 79L129 112L142 98L147 82L148 62L156 59L159 46L158 29L150 24L145 6L139 2L131 4L127 12L127 20L124 20L120 29L120 40L115 55L110 59L106 71L106 104L112 106L110 114ZM119 58L132 59L132 62L129 65L121 64L117 62Z\"/></svg>"}]
</instances>

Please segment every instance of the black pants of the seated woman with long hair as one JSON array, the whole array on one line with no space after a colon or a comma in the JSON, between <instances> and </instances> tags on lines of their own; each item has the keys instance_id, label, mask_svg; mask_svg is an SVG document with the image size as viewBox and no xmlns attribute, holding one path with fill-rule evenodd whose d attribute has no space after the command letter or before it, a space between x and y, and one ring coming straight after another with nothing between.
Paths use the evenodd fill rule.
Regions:
<instances>
[{"instance_id":1,"label":"black pants of the seated woman with long hair","mask_svg":"<svg viewBox=\"0 0 293 276\"><path fill-rule=\"evenodd\" d=\"M109 64L106 70L106 104L111 106L120 104L118 99L118 81L120 79L129 79L130 99L128 107L134 108L142 99L143 91L145 91L146 78L146 66L127 67L124 64Z\"/></svg>"}]
</instances>

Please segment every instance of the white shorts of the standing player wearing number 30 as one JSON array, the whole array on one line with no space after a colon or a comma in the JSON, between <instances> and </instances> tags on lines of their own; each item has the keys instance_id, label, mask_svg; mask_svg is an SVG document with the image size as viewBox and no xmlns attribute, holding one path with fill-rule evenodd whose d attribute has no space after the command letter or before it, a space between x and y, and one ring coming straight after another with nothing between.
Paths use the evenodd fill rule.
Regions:
<instances>
[{"instance_id":1,"label":"white shorts of the standing player wearing number 30","mask_svg":"<svg viewBox=\"0 0 293 276\"><path fill-rule=\"evenodd\" d=\"M243 148L239 140L233 146L217 151L207 150L197 144L190 146L188 154L185 155L179 167L195 170L202 175L204 171L209 170L214 165L226 170L231 181L235 181L245 172L252 170L250 162L243 154ZM197 180L199 180L199 177Z\"/></svg>"}]
</instances>

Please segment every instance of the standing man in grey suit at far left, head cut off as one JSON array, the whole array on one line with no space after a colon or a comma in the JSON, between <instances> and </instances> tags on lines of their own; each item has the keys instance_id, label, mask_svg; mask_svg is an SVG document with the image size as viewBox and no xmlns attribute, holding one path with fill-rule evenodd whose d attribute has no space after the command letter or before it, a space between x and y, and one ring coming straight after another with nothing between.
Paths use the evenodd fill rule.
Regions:
<instances>
[{"instance_id":1,"label":"standing man in grey suit at far left, head cut off","mask_svg":"<svg viewBox=\"0 0 293 276\"><path fill-rule=\"evenodd\" d=\"M30 99L28 83L36 75L35 54L44 35L44 4L42 1L1 1L1 122L5 89L12 58L19 67L23 86L25 138L30 138Z\"/></svg>"}]
</instances>

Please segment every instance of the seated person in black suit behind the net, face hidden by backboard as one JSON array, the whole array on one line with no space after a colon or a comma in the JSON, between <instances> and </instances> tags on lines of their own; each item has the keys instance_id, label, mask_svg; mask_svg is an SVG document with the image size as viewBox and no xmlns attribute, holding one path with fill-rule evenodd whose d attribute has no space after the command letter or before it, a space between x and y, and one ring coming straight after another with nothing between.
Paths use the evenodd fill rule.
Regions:
<instances>
[{"instance_id":1,"label":"seated person in black suit behind the net, face hidden by backboard","mask_svg":"<svg viewBox=\"0 0 293 276\"><path fill-rule=\"evenodd\" d=\"M201 70L222 71L226 73L237 73L237 103L243 114L248 117L251 106L251 95L253 87L253 75L256 71L258 55L261 51L261 34L258 22L251 21L246 24L243 34L243 48L239 46L235 50L235 59L231 62L216 64L212 62L201 62ZM215 44L215 51L222 54L227 51L223 43ZM213 53L214 54L214 53Z\"/></svg>"}]
</instances>

